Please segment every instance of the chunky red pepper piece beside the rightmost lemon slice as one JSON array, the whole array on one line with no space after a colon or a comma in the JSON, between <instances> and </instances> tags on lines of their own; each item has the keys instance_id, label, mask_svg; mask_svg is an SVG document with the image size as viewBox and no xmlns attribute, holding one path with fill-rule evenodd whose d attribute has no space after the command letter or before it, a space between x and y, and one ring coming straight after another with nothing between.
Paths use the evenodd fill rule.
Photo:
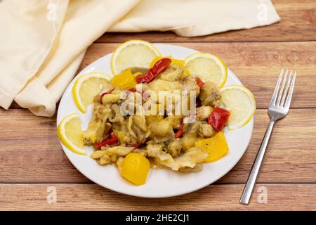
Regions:
<instances>
[{"instance_id":1,"label":"chunky red pepper piece beside the rightmost lemon slice","mask_svg":"<svg viewBox=\"0 0 316 225\"><path fill-rule=\"evenodd\" d=\"M221 131L227 124L229 117L230 112L228 110L225 110L224 108L214 108L209 116L208 123L216 129L216 131Z\"/></svg>"}]
</instances>

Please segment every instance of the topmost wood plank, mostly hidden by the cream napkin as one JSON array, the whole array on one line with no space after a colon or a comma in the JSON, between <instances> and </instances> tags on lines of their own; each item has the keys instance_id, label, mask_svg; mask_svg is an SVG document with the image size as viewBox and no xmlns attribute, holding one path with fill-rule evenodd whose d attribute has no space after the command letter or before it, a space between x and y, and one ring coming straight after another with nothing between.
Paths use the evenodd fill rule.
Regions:
<instances>
[{"instance_id":1,"label":"topmost wood plank, mostly hidden by the cream napkin","mask_svg":"<svg viewBox=\"0 0 316 225\"><path fill-rule=\"evenodd\" d=\"M316 2L314 0L273 0L272 2L281 21L266 27L229 31L204 37L178 37L172 32L105 33L97 42L124 42L129 39L154 42L316 40Z\"/></svg>"}]
</instances>

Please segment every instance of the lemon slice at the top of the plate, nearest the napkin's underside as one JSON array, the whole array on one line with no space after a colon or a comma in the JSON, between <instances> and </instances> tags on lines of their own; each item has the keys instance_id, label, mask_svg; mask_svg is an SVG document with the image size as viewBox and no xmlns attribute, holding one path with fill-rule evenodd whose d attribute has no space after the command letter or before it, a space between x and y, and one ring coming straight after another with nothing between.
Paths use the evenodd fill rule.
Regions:
<instances>
[{"instance_id":1,"label":"lemon slice at the top of the plate, nearest the napkin's underside","mask_svg":"<svg viewBox=\"0 0 316 225\"><path fill-rule=\"evenodd\" d=\"M128 68L149 68L152 60L160 55L158 49L147 41L126 41L112 55L112 73L117 75Z\"/></svg>"}]
</instances>

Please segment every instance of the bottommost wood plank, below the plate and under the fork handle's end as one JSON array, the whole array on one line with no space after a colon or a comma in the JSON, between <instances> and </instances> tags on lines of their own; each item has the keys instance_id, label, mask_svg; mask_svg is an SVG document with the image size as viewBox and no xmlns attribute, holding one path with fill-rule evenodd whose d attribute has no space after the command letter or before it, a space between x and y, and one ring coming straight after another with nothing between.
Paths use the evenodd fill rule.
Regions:
<instances>
[{"instance_id":1,"label":"bottommost wood plank, below the plate and under the fork handle's end","mask_svg":"<svg viewBox=\"0 0 316 225\"><path fill-rule=\"evenodd\" d=\"M49 187L56 190L56 203L47 203ZM258 203L258 187L266 188L266 203ZM0 210L316 210L316 184L259 184L248 206L239 204L243 188L211 185L187 195L148 199L95 184L0 184Z\"/></svg>"}]
</instances>

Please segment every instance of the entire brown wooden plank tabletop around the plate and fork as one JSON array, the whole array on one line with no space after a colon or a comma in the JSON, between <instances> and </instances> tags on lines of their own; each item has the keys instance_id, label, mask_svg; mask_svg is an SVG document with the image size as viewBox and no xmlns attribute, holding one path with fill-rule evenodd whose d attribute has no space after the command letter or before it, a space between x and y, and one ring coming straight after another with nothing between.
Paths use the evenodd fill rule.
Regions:
<instances>
[{"instance_id":1,"label":"entire brown wooden plank tabletop around the plate and fork","mask_svg":"<svg viewBox=\"0 0 316 225\"><path fill-rule=\"evenodd\" d=\"M104 34L79 71L122 41L144 39L214 53L256 97L254 134L239 163L216 183L175 198L145 199L102 188L67 159L55 117L37 117L13 103L0 110L0 210L316 210L316 1L275 0L280 23L206 37L170 32ZM239 204L263 139L279 71L298 71L289 115L277 122L248 206ZM48 203L55 187L57 203ZM262 190L267 201L258 201ZM264 192L265 193L265 192Z\"/></svg>"}]
</instances>

